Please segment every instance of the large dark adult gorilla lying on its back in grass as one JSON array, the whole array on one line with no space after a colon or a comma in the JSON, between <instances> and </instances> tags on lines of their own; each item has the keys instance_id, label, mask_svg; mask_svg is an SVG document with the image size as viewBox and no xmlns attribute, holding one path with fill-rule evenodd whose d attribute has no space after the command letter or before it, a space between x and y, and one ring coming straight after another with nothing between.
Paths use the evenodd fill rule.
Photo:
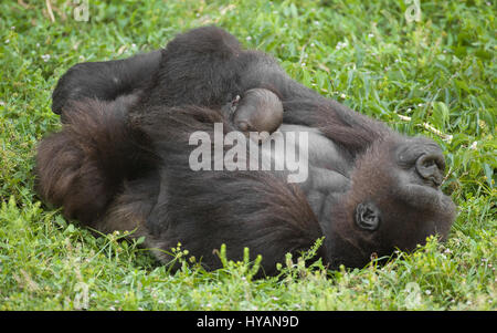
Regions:
<instances>
[{"instance_id":1,"label":"large dark adult gorilla lying on its back in grass","mask_svg":"<svg viewBox=\"0 0 497 333\"><path fill-rule=\"evenodd\" d=\"M282 100L283 133L308 134L305 183L288 184L285 171L190 168L190 135L213 137L213 123L232 131L222 106L255 87ZM248 247L275 274L285 253L325 236L325 263L362 267L372 253L445 238L455 217L438 189L445 166L433 141L320 96L219 28L148 54L77 64L60 80L53 111L64 126L39 146L40 195L101 231L135 230L163 262L181 242L215 269L213 249L225 243L229 258Z\"/></svg>"}]
</instances>

